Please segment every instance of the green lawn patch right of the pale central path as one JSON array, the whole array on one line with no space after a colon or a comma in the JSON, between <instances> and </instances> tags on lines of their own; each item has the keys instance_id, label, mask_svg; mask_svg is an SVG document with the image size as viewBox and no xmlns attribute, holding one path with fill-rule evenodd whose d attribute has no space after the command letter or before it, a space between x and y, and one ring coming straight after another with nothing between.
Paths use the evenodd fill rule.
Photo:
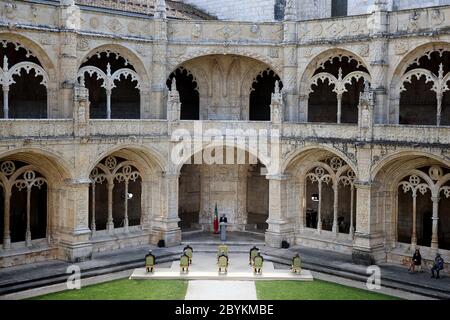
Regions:
<instances>
[{"instance_id":1,"label":"green lawn patch right of the pale central path","mask_svg":"<svg viewBox=\"0 0 450 320\"><path fill-rule=\"evenodd\" d=\"M398 300L396 297L321 280L256 281L258 300Z\"/></svg>"}]
</instances>

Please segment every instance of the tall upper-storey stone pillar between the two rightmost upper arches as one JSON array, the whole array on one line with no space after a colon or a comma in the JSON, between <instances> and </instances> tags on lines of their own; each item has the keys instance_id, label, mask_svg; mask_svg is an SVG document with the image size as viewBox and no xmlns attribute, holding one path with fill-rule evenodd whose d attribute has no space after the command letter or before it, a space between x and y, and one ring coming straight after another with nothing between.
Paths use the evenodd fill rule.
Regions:
<instances>
[{"instance_id":1,"label":"tall upper-storey stone pillar between the two rightmost upper arches","mask_svg":"<svg viewBox=\"0 0 450 320\"><path fill-rule=\"evenodd\" d=\"M370 44L371 87L375 95L375 123L389 122L387 73L389 67L388 38L389 31L387 1L378 0L369 24L372 41Z\"/></svg>"}]
</instances>

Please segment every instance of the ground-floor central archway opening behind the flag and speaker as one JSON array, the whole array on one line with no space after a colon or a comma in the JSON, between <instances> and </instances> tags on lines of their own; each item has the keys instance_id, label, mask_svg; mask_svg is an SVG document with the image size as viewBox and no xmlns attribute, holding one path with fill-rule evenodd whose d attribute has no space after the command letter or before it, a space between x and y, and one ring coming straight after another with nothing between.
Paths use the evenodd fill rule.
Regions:
<instances>
[{"instance_id":1,"label":"ground-floor central archway opening behind the flag and speaker","mask_svg":"<svg viewBox=\"0 0 450 320\"><path fill-rule=\"evenodd\" d=\"M249 159L248 154L246 159ZM215 207L228 218L229 231L263 234L269 217L269 181L265 166L185 164L179 178L179 227L212 231Z\"/></svg>"}]
</instances>

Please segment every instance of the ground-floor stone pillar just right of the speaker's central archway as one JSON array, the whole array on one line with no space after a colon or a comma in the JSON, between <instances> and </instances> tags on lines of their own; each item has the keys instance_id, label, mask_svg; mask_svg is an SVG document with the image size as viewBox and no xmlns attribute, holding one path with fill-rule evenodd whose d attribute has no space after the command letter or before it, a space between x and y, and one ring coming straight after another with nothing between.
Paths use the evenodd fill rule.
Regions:
<instances>
[{"instance_id":1,"label":"ground-floor stone pillar just right of the speaker's central archway","mask_svg":"<svg viewBox=\"0 0 450 320\"><path fill-rule=\"evenodd\" d=\"M268 175L269 180L269 228L266 231L266 244L280 248L283 240L294 244L294 226L285 216L286 212L286 180L285 175Z\"/></svg>"}]
</instances>

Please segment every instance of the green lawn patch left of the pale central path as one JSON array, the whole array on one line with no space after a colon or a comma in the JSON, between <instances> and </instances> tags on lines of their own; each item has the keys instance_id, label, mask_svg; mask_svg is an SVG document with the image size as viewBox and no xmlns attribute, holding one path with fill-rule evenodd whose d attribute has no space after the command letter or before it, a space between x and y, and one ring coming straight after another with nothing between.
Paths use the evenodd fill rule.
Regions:
<instances>
[{"instance_id":1,"label":"green lawn patch left of the pale central path","mask_svg":"<svg viewBox=\"0 0 450 320\"><path fill-rule=\"evenodd\" d=\"M187 281L121 279L33 298L33 300L183 300Z\"/></svg>"}]
</instances>

